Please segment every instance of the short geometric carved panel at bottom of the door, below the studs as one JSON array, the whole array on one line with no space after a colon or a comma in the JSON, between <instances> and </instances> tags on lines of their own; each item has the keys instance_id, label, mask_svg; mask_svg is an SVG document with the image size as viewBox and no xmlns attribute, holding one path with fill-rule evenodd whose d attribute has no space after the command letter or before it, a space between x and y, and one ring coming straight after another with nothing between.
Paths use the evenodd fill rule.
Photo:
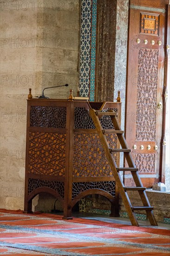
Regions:
<instances>
[{"instance_id":1,"label":"short geometric carved panel at bottom of the door, below the studs","mask_svg":"<svg viewBox=\"0 0 170 256\"><path fill-rule=\"evenodd\" d=\"M155 171L155 155L154 154L135 154L135 164L139 172Z\"/></svg>"}]
</instances>

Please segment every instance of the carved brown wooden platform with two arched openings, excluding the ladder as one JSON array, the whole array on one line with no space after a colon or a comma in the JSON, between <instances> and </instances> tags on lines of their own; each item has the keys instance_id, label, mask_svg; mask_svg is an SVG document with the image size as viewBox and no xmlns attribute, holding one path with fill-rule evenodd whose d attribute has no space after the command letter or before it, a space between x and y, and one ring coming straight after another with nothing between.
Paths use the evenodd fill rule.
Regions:
<instances>
[{"instance_id":1,"label":"carved brown wooden platform with two arched openings, excluding the ladder","mask_svg":"<svg viewBox=\"0 0 170 256\"><path fill-rule=\"evenodd\" d=\"M33 198L45 192L61 202L64 218L71 219L81 198L98 194L111 202L111 215L118 216L118 189L91 108L114 110L120 123L120 102L27 100L25 212L31 213ZM110 116L100 122L111 148L119 148ZM114 158L119 165L119 153Z\"/></svg>"}]
</instances>

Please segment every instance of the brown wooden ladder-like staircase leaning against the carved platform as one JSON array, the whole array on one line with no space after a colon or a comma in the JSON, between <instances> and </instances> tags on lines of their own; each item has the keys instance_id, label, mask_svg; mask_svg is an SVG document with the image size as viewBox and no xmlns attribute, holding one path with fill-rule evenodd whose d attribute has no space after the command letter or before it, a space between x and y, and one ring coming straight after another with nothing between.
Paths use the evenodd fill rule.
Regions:
<instances>
[{"instance_id":1,"label":"brown wooden ladder-like staircase leaning against the carved platform","mask_svg":"<svg viewBox=\"0 0 170 256\"><path fill-rule=\"evenodd\" d=\"M99 118L101 118L103 115L109 115L111 116L111 121L113 123L113 126L115 130L109 129L105 130L102 128ZM133 162L133 159L131 157L131 149L128 148L126 140L124 138L124 131L121 130L118 121L117 121L117 113L115 113L113 110L108 110L107 112L102 112L99 110L90 109L90 116L92 117L92 120L95 124L95 127L98 132L98 136L100 138L101 144L105 150L105 155L108 159L108 162L110 164L111 170L113 172L113 175L115 177L115 181L118 186L118 190L120 192L120 195L122 197L122 200L124 202L124 206L126 208L126 211L129 215L129 218L131 220L131 224L133 226L139 226L137 222L137 217L135 216L135 210L145 210L147 214L147 218L150 221L150 224L153 226L157 226L157 221L155 219L155 216L153 214L153 207L150 206L150 202L146 195L146 188L143 187L142 182L140 180L140 177L138 175L138 169L135 166L135 163ZM108 133L114 133L117 134L118 140L120 142L121 148L110 148L107 138L105 134ZM113 152L124 152L125 159L129 165L129 168L118 168L116 165L116 162L114 160L114 157L112 155ZM136 187L125 187L124 183L120 177L119 171L131 171L132 177L134 179L134 182L136 184ZM141 201L143 203L143 206L140 207L133 207L131 205L131 201L129 199L129 196L127 194L128 190L135 190L138 191Z\"/></svg>"}]
</instances>

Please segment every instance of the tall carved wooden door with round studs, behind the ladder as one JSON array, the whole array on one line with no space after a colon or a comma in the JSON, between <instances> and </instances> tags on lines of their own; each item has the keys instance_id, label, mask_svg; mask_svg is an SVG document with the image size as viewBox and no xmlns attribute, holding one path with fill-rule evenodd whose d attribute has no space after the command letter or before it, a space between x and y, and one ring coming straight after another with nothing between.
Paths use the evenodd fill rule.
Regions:
<instances>
[{"instance_id":1,"label":"tall carved wooden door with round studs, behind the ladder","mask_svg":"<svg viewBox=\"0 0 170 256\"><path fill-rule=\"evenodd\" d=\"M160 167L168 2L130 1L125 137L147 188L161 181L163 175ZM126 186L132 185L130 174L124 178Z\"/></svg>"}]
</instances>

